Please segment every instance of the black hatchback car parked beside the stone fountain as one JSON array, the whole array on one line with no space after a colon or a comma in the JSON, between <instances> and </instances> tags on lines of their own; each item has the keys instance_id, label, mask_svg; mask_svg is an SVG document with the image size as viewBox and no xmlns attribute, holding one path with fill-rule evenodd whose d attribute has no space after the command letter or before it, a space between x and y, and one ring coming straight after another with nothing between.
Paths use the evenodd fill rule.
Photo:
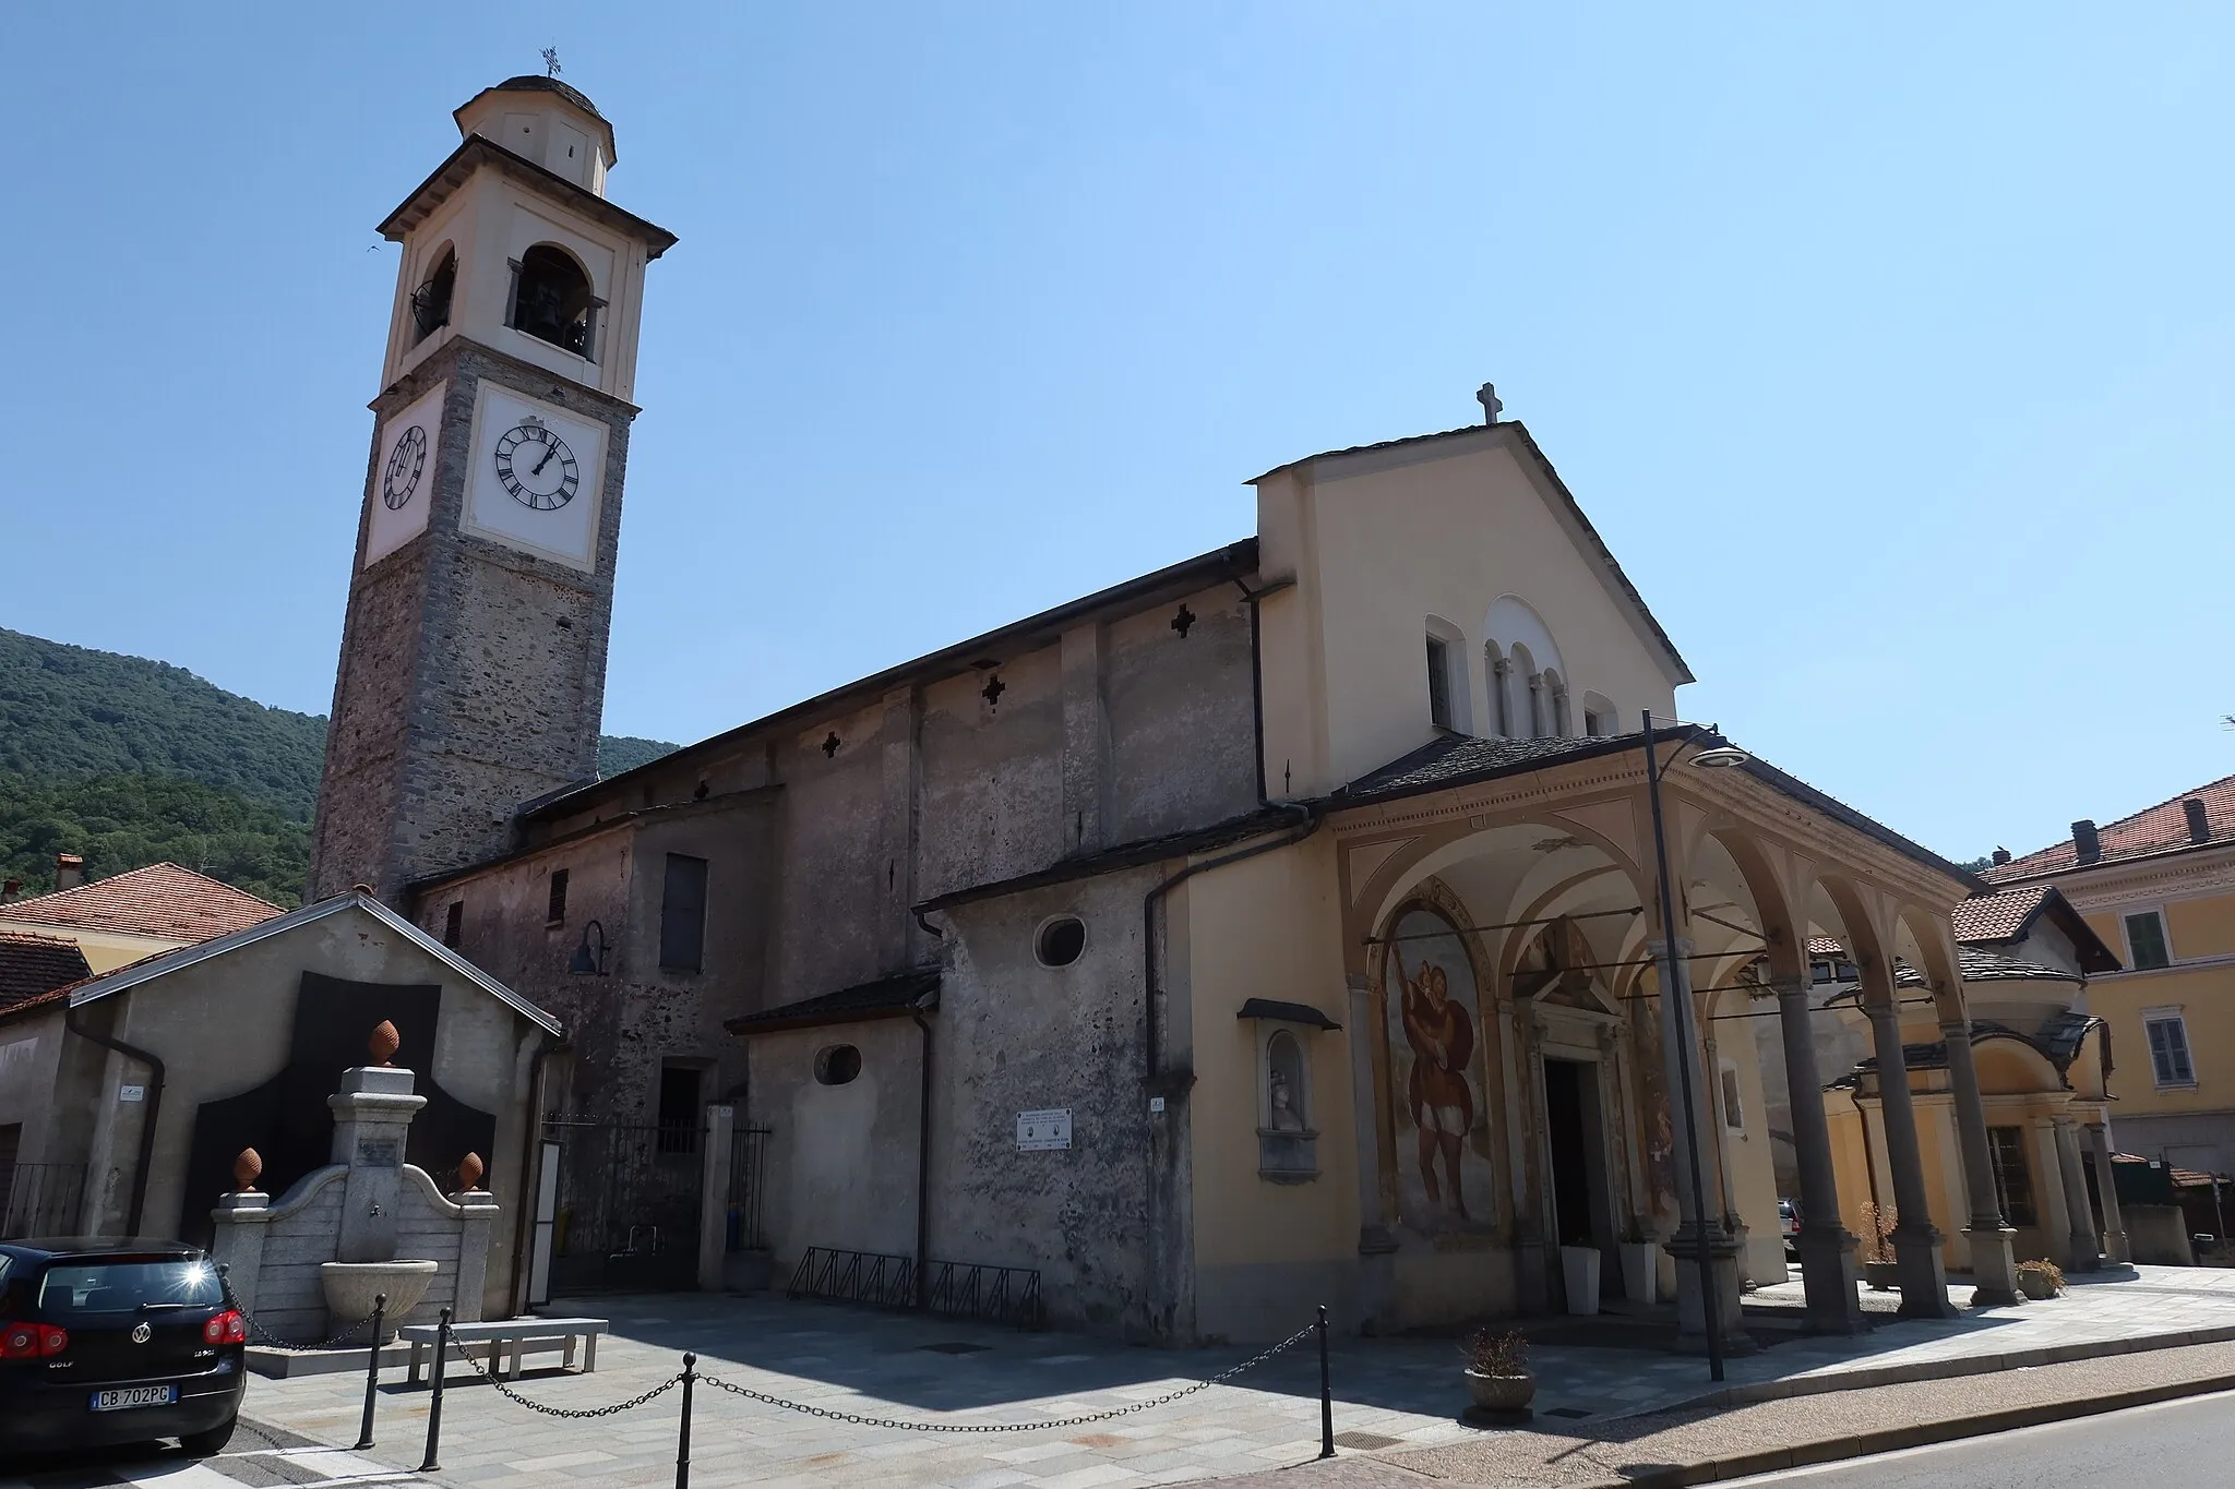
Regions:
<instances>
[{"instance_id":1,"label":"black hatchback car parked beside the stone fountain","mask_svg":"<svg viewBox=\"0 0 2235 1489\"><path fill-rule=\"evenodd\" d=\"M232 1438L248 1322L177 1241L0 1241L0 1462L11 1453Z\"/></svg>"}]
</instances>

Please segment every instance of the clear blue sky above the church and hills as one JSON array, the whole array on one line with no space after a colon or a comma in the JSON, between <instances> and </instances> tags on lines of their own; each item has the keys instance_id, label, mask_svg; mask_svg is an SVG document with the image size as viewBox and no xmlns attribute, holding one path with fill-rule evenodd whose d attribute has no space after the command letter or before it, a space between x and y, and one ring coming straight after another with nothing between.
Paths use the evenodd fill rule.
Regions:
<instances>
[{"instance_id":1,"label":"clear blue sky above the church and hills","mask_svg":"<svg viewBox=\"0 0 2235 1489\"><path fill-rule=\"evenodd\" d=\"M1495 380L1685 714L1929 846L2235 770L2228 7L31 7L0 625L326 710L373 223L543 45L682 234L610 732L1229 542Z\"/></svg>"}]
</instances>

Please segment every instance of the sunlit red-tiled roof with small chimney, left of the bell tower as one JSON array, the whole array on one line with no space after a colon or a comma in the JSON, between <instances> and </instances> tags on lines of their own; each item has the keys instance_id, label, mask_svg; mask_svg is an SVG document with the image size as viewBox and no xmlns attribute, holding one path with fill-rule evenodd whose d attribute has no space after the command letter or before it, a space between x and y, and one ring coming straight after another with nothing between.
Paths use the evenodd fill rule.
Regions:
<instances>
[{"instance_id":1,"label":"sunlit red-tiled roof with small chimney, left of the bell tower","mask_svg":"<svg viewBox=\"0 0 2235 1489\"><path fill-rule=\"evenodd\" d=\"M94 971L114 971L156 951L246 931L282 913L277 904L179 864L148 864L76 884L74 855L60 859L60 880L69 886L0 902L0 931L72 940Z\"/></svg>"}]
</instances>

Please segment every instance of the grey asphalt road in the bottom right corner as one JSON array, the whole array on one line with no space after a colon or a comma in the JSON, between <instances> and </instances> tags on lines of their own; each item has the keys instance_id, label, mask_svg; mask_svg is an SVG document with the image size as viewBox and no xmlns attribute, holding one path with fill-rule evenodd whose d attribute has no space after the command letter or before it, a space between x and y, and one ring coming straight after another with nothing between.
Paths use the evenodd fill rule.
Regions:
<instances>
[{"instance_id":1,"label":"grey asphalt road in the bottom right corner","mask_svg":"<svg viewBox=\"0 0 2235 1489\"><path fill-rule=\"evenodd\" d=\"M1725 1480L1781 1489L2222 1489L2235 1485L2235 1393L2193 1395L1991 1438Z\"/></svg>"}]
</instances>

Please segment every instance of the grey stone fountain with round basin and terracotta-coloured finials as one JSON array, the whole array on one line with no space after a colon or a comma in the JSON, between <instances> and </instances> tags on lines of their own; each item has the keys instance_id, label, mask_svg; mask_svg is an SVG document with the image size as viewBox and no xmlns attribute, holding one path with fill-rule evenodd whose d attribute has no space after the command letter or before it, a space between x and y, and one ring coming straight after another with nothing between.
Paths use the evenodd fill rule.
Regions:
<instances>
[{"instance_id":1,"label":"grey stone fountain with round basin and terracotta-coloured finials","mask_svg":"<svg viewBox=\"0 0 2235 1489\"><path fill-rule=\"evenodd\" d=\"M391 1337L443 1306L460 1322L481 1317L498 1205L478 1188L478 1154L458 1163L458 1190L447 1197L405 1163L411 1116L427 1098L413 1094L409 1069L391 1065L398 1043L393 1025L373 1029L373 1063L342 1072L342 1089L326 1098L331 1163L273 1203L255 1188L261 1159L244 1150L232 1165L237 1188L210 1212L212 1255L241 1308L270 1335L342 1333L369 1317L382 1293Z\"/></svg>"}]
</instances>

